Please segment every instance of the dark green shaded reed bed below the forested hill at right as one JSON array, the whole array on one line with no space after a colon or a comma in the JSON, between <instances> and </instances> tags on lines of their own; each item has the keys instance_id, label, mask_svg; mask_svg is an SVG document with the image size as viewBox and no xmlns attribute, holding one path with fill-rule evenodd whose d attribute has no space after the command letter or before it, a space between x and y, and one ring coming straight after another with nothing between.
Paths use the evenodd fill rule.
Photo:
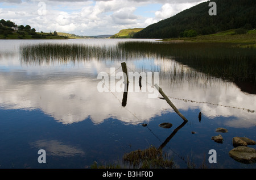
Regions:
<instances>
[{"instance_id":1,"label":"dark green shaded reed bed below the forested hill at right","mask_svg":"<svg viewBox=\"0 0 256 180\"><path fill-rule=\"evenodd\" d=\"M228 43L155 43L129 41L119 43L129 53L149 53L187 65L197 72L229 81L256 83L256 51ZM193 74L196 75L196 74Z\"/></svg>"}]
</instances>

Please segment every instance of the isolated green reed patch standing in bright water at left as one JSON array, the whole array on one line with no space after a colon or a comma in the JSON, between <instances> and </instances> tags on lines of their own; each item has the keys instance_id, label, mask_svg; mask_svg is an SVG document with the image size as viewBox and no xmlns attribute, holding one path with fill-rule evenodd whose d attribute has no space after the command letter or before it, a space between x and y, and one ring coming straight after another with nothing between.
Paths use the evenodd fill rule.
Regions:
<instances>
[{"instance_id":1,"label":"isolated green reed patch standing in bright water at left","mask_svg":"<svg viewBox=\"0 0 256 180\"><path fill-rule=\"evenodd\" d=\"M144 53L129 53L115 45L43 43L20 46L20 60L26 64L54 64L55 62L66 64L92 59L122 61L142 57Z\"/></svg>"}]
</instances>

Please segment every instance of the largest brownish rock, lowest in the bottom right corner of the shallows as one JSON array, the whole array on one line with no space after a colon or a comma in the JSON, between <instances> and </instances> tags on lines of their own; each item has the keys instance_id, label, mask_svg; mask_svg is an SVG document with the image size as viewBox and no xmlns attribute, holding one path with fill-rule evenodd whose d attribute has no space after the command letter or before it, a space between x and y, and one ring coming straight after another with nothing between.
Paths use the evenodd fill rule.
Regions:
<instances>
[{"instance_id":1,"label":"largest brownish rock, lowest in the bottom right corner of the shallows","mask_svg":"<svg viewBox=\"0 0 256 180\"><path fill-rule=\"evenodd\" d=\"M256 162L256 150L246 146L237 146L230 150L229 156L243 164L253 164Z\"/></svg>"}]
</instances>

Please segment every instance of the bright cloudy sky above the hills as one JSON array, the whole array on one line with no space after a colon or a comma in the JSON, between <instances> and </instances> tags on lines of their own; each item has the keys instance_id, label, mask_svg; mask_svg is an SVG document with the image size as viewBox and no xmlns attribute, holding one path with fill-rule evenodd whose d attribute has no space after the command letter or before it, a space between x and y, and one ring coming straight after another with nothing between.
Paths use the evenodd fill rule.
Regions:
<instances>
[{"instance_id":1,"label":"bright cloudy sky above the hills","mask_svg":"<svg viewBox=\"0 0 256 180\"><path fill-rule=\"evenodd\" d=\"M113 35L144 28L195 6L202 0L0 0L0 19L36 32Z\"/></svg>"}]
</instances>

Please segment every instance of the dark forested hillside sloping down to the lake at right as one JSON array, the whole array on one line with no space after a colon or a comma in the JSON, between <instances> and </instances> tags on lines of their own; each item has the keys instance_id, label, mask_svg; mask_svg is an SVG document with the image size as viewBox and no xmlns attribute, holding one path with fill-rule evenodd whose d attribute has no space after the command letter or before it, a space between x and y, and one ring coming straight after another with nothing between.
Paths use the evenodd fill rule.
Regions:
<instances>
[{"instance_id":1,"label":"dark forested hillside sloping down to the lake at right","mask_svg":"<svg viewBox=\"0 0 256 180\"><path fill-rule=\"evenodd\" d=\"M256 27L255 0L214 0L217 15L209 15L209 2L203 2L179 12L171 18L151 24L137 32L134 38L165 39L214 34L229 29Z\"/></svg>"}]
</instances>

